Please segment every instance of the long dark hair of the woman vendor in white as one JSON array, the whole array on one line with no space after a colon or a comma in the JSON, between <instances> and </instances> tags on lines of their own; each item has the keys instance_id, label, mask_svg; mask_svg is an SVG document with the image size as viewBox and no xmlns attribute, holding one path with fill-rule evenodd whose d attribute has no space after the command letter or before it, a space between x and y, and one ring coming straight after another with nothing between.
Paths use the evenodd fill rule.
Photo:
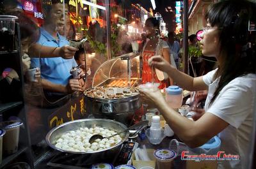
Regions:
<instances>
[{"instance_id":1,"label":"long dark hair of the woman vendor in white","mask_svg":"<svg viewBox=\"0 0 256 169\"><path fill-rule=\"evenodd\" d=\"M220 82L210 104L231 80L256 73L256 34L249 23L256 23L256 4L246 0L228 0L213 4L205 15L212 27L220 32L220 55L215 79ZM250 22L249 22L250 21Z\"/></svg>"}]
</instances>

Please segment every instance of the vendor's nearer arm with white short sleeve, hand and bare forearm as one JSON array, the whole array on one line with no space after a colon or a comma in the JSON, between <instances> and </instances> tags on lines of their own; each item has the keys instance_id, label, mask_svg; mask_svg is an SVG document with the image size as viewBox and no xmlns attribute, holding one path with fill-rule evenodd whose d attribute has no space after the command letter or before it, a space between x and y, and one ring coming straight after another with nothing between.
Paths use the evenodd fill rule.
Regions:
<instances>
[{"instance_id":1,"label":"vendor's nearer arm with white short sleeve, hand and bare forearm","mask_svg":"<svg viewBox=\"0 0 256 169\"><path fill-rule=\"evenodd\" d=\"M207 112L197 121L191 121L168 107L161 92L145 92L145 98L156 104L164 119L189 147L203 145L213 136L227 128L228 125L239 128L249 114L252 114L254 101L252 84L241 80L228 84L218 95ZM241 99L243 98L243 99Z\"/></svg>"}]
</instances>

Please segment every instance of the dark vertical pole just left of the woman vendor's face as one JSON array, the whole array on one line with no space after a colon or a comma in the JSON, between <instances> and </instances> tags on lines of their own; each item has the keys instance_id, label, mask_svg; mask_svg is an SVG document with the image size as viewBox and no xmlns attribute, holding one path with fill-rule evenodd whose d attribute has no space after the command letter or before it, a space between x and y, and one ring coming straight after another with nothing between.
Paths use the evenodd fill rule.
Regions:
<instances>
[{"instance_id":1,"label":"dark vertical pole just left of the woman vendor's face","mask_svg":"<svg viewBox=\"0 0 256 169\"><path fill-rule=\"evenodd\" d=\"M188 74L188 0L183 1L184 73Z\"/></svg>"}]
</instances>

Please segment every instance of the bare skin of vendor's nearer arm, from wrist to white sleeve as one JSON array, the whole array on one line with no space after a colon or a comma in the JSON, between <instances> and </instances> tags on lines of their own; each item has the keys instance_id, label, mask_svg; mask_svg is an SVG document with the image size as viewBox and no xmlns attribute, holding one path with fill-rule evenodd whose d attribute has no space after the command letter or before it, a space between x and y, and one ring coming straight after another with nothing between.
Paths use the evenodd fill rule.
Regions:
<instances>
[{"instance_id":1,"label":"bare skin of vendor's nearer arm, from wrist to white sleeve","mask_svg":"<svg viewBox=\"0 0 256 169\"><path fill-rule=\"evenodd\" d=\"M159 103L157 108L174 133L191 148L203 145L228 126L227 122L211 113L191 121L168 107L165 101Z\"/></svg>"}]
</instances>

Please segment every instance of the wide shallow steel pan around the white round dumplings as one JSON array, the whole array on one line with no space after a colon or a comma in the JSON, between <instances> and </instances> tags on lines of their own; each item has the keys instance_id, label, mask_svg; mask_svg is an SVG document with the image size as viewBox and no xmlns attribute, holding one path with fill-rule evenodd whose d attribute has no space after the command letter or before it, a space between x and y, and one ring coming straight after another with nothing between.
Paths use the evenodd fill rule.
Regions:
<instances>
[{"instance_id":1,"label":"wide shallow steel pan around the white round dumplings","mask_svg":"<svg viewBox=\"0 0 256 169\"><path fill-rule=\"evenodd\" d=\"M49 133L46 135L46 142L47 144L52 147L52 149L58 150L60 152L65 152L65 155L67 154L77 154L77 158L82 158L85 161L84 164L90 166L93 165L93 163L100 163L100 162L111 162L113 158L118 154L118 151L122 145L122 143L128 138L129 131L125 131L122 136L122 141L114 145L113 147L109 147L108 149L104 149L101 151L92 151L92 152L73 152L73 151L64 151L62 149L58 149L54 145L56 144L56 140L60 138L60 136L63 133L66 133L70 130L76 130L79 128L93 128L94 126L99 126L102 128L108 128L113 129L116 132L122 131L126 129L127 127L116 121L112 121L109 119L81 119L77 121L70 121L65 122L64 124L61 124L60 126L57 126L56 128L51 129ZM64 156L64 154L63 154ZM109 161L110 160L110 161Z\"/></svg>"}]
</instances>

